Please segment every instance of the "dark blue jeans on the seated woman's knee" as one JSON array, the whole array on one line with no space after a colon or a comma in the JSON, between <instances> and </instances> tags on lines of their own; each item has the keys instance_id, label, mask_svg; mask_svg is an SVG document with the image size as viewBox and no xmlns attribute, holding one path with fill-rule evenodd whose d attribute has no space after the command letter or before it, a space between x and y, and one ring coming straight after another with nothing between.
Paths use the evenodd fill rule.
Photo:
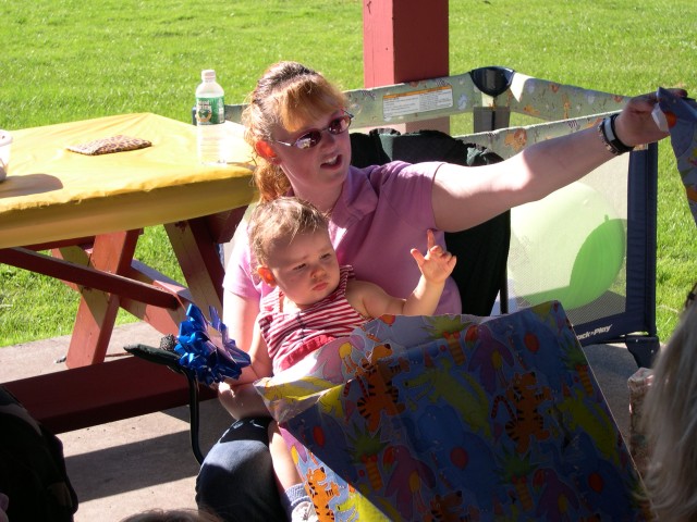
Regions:
<instances>
[{"instance_id":1,"label":"dark blue jeans on the seated woman's knee","mask_svg":"<svg viewBox=\"0 0 697 522\"><path fill-rule=\"evenodd\" d=\"M196 504L224 521L283 521L273 474L270 418L233 423L210 448L196 478Z\"/></svg>"}]
</instances>

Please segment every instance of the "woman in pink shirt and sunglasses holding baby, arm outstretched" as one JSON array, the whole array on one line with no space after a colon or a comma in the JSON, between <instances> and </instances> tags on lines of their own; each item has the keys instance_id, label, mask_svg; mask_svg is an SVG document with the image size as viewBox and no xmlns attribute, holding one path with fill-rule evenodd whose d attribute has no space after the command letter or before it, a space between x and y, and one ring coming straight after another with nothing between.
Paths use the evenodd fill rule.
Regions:
<instances>
[{"instance_id":1,"label":"woman in pink shirt and sunglasses holding baby, arm outstretched","mask_svg":"<svg viewBox=\"0 0 697 522\"><path fill-rule=\"evenodd\" d=\"M344 96L322 75L295 62L274 64L248 101L243 123L258 160L255 183L261 200L293 195L329 213L339 262L399 297L406 297L420 275L404 252L425 250L427 229L438 231L436 241L444 246L443 232L541 199L617 153L667 136L651 117L656 95L646 95L632 99L599 129L537 144L504 162L477 167L477 175L438 162L359 170L350 166L351 115ZM223 306L224 322L241 347L249 346L259 300L270 291L250 269L245 239L236 243L227 269ZM457 289L449 281L437 313L460 310ZM241 421L208 453L197 482L199 504L229 520L283 520L266 447L268 412L250 387L222 385L219 397Z\"/></svg>"}]
</instances>

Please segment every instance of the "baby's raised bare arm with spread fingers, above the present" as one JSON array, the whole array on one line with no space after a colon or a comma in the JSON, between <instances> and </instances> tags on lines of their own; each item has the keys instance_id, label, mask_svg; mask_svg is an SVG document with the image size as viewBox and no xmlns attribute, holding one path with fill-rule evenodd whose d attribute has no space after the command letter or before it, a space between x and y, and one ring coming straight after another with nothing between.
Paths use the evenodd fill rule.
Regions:
<instances>
[{"instance_id":1,"label":"baby's raised bare arm with spread fingers, above the present","mask_svg":"<svg viewBox=\"0 0 697 522\"><path fill-rule=\"evenodd\" d=\"M433 233L428 231L428 250L423 256L417 249L412 249L421 277L414 291L406 299L399 299L388 295L382 288L365 281L352 281L346 287L348 302L362 314L379 318L386 313L393 315L431 315L443 294L445 281L457 259L450 252L436 245Z\"/></svg>"}]
</instances>

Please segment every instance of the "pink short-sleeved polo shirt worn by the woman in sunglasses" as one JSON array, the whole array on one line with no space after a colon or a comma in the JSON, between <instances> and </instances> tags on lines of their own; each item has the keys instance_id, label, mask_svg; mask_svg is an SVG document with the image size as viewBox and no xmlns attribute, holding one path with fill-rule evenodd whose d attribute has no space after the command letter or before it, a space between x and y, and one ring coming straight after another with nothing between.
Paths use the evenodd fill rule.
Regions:
<instances>
[{"instance_id":1,"label":"pink short-sleeved polo shirt worn by the woman in sunglasses","mask_svg":"<svg viewBox=\"0 0 697 522\"><path fill-rule=\"evenodd\" d=\"M431 191L442 163L401 161L367 169L351 167L331 214L329 234L339 264L351 264L356 279L370 281L388 294L406 298L420 272L409 250L426 251L426 231L436 228ZM246 234L235 240L223 287L241 297L261 299L271 291L250 270ZM436 241L444 247L443 233ZM437 313L460 313L460 293L449 279Z\"/></svg>"}]
</instances>

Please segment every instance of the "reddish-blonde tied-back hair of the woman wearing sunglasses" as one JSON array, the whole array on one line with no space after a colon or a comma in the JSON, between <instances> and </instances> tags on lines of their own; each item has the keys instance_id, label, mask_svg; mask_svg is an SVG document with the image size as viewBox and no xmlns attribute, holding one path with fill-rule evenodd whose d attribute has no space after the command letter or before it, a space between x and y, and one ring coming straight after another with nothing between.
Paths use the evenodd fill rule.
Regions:
<instances>
[{"instance_id":1,"label":"reddish-blonde tied-back hair of the woman wearing sunglasses","mask_svg":"<svg viewBox=\"0 0 697 522\"><path fill-rule=\"evenodd\" d=\"M254 182L259 200L270 201L286 194L291 184L280 166L256 152L255 145L271 140L276 125L293 132L309 120L343 109L346 98L320 73L297 62L279 62L266 70L247 102L242 124L257 162Z\"/></svg>"}]
</instances>

